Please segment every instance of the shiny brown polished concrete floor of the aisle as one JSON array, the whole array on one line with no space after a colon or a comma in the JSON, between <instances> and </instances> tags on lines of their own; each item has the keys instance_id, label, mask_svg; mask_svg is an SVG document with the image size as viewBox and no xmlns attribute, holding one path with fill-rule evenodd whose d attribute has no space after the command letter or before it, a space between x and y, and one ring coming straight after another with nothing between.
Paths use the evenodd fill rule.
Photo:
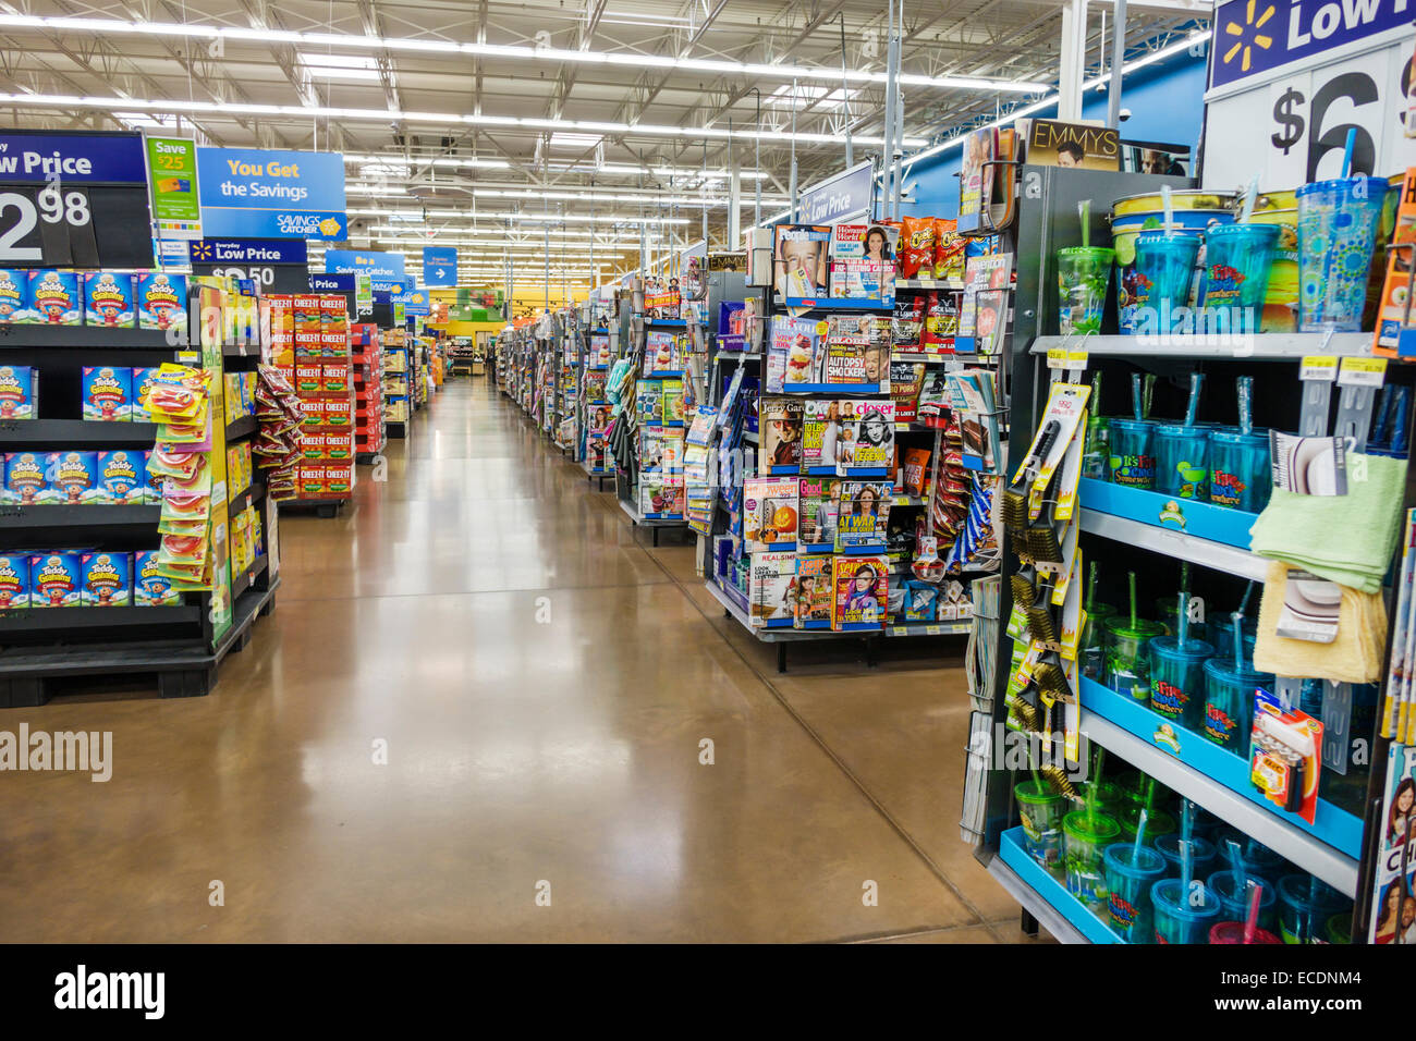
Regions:
<instances>
[{"instance_id":1,"label":"shiny brown polished concrete floor of the aisle","mask_svg":"<svg viewBox=\"0 0 1416 1041\"><path fill-rule=\"evenodd\" d=\"M484 380L370 473L280 521L278 608L210 697L3 714L112 731L113 776L0 775L0 936L1021 938L959 840L960 642L777 676Z\"/></svg>"}]
</instances>

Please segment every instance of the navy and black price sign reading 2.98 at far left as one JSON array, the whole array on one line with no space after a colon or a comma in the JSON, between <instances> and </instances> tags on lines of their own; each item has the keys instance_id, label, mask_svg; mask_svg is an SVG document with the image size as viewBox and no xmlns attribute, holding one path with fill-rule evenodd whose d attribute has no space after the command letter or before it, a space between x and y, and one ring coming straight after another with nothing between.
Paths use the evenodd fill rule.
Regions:
<instances>
[{"instance_id":1,"label":"navy and black price sign reading 2.98 at far left","mask_svg":"<svg viewBox=\"0 0 1416 1041\"><path fill-rule=\"evenodd\" d=\"M0 266L153 266L142 135L0 132Z\"/></svg>"}]
</instances>

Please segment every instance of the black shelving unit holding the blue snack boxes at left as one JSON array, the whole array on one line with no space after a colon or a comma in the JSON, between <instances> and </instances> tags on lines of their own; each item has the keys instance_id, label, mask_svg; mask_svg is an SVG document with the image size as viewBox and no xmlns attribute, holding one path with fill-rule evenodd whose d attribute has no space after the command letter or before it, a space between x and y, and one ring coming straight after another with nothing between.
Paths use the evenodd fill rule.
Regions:
<instances>
[{"instance_id":1,"label":"black shelving unit holding the blue snack boxes at left","mask_svg":"<svg viewBox=\"0 0 1416 1041\"><path fill-rule=\"evenodd\" d=\"M188 299L188 329L198 327L197 293ZM156 440L152 422L79 419L79 370L85 364L159 365L193 357L185 334L92 326L0 326L0 355L7 364L40 370L38 419L0 422L0 450L146 449ZM249 370L259 348L225 344L214 354L227 367ZM244 358L244 361L242 361ZM219 365L221 363L218 363ZM212 380L212 418L229 440L251 438L253 418L225 422L222 368ZM228 504L229 514L255 503L268 510L263 486L246 489ZM159 542L159 504L0 504L0 538L14 550L42 551L55 542L98 550L152 550ZM265 516L265 514L263 514ZM265 525L269 537L273 527ZM74 677L132 680L152 677L160 697L207 694L217 666L251 639L255 618L275 603L278 578L232 575L232 623L219 637L212 625L212 595L188 592L174 606L72 606L0 610L0 708L41 705L58 681Z\"/></svg>"}]
</instances>

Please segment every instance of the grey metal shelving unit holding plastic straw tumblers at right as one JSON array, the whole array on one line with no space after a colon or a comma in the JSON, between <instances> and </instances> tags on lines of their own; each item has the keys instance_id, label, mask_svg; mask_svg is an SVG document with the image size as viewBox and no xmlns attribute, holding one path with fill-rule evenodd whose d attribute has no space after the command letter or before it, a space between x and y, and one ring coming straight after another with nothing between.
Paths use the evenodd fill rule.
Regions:
<instances>
[{"instance_id":1,"label":"grey metal shelving unit holding plastic straw tumblers at right","mask_svg":"<svg viewBox=\"0 0 1416 1041\"><path fill-rule=\"evenodd\" d=\"M1015 314L1015 378L1012 382L1012 436L1010 459L1018 460L1031 443L1038 414L1052 377L1045 358L1048 351L1061 354L1066 348L1073 355L1083 353L1087 364L1102 368L1102 401L1093 402L1093 414L1124 412L1129 399L1127 365L1151 371L1163 378L1170 401L1160 414L1170 414L1182 401L1184 375L1197 365L1209 372L1209 387L1216 397L1223 395L1222 408L1232 409L1232 387L1236 374L1253 375L1256 425L1296 429L1300 399L1297 363L1307 355L1361 357L1371 353L1371 334L1253 334L1236 340L1216 340L1202 336L1167 336L1150 340L1138 336L1059 337L1055 329L1056 275L1051 256L1059 246L1080 239L1078 200L1106 200L1154 191L1161 183L1185 187L1177 178L1140 174L1112 174L1027 167L1024 177L1041 184L1041 197L1021 198L1018 203L1018 303ZM1093 242L1106 242L1107 231L1102 210L1093 212L1090 229ZM1104 327L1114 327L1114 314L1107 314ZM1087 374L1089 377L1090 374ZM1263 388L1269 388L1264 392ZM1204 414L1202 414L1204 418ZM1216 416L1218 418L1218 416ZM1231 418L1232 421L1232 418ZM1218 591L1212 593L1221 603L1242 591L1239 579L1262 582L1267 561L1249 551L1247 530L1252 514L1222 510L1194 500L1171 500L1150 491L1120 489L1100 480L1083 479L1079 494L1079 524L1082 551L1087 559L1099 559L1103 572L1112 572L1114 582L1124 579L1127 569L1137 571L1143 581L1170 581L1181 562L1195 565L1198 586ZM1005 574L1017 568L1017 558L1007 554ZM1107 578L1103 574L1103 581ZM1007 683L1010 642L1004 636L1010 613L1008 585L1003 586L1001 619L994 625L991 639L998 642L998 669L994 676L993 724L1007 715L1004 698L998 695ZM1168 589L1168 586L1167 586ZM1112 586L1110 602L1121 593ZM1154 589L1150 595L1154 595ZM1148 599L1146 601L1150 602ZM1150 616L1150 612L1144 612ZM1318 800L1314 824L1269 803L1249 780L1247 759L1219 748L1199 734L1167 724L1147 702L1113 693L1102 683L1082 677L1078 683L1079 729L1087 742L1106 749L1109 762L1124 761L1130 766L1157 779L1181 797L1243 834L1255 838L1287 860L1294 870L1310 872L1337 891L1359 897L1362 888L1364 813L1359 797L1352 796L1354 779L1337 778L1342 783L1324 787ZM987 701L987 700L986 700ZM1355 735L1359 736L1359 735ZM1374 748L1376 744L1374 742ZM1379 762L1374 756L1372 762ZM1021 829L1012 806L1015 775L993 769L987 779L987 819L984 841L977 850L978 860L1012 892L1025 909L1025 928L1042 923L1058 939L1070 942L1116 942L1116 936L1090 911L1073 899L1065 885L1034 864L1022 851ZM1358 775L1357 785L1365 785ZM1270 880L1276 881L1276 880Z\"/></svg>"}]
</instances>

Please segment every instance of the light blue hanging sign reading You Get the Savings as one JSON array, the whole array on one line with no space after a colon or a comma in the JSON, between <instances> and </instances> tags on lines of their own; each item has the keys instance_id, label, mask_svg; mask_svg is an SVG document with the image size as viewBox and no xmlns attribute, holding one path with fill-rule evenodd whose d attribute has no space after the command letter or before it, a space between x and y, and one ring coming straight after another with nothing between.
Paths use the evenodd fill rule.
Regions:
<instances>
[{"instance_id":1,"label":"light blue hanging sign reading You Get the Savings","mask_svg":"<svg viewBox=\"0 0 1416 1041\"><path fill-rule=\"evenodd\" d=\"M329 152L197 149L201 224L234 238L348 237L344 157Z\"/></svg>"}]
</instances>

